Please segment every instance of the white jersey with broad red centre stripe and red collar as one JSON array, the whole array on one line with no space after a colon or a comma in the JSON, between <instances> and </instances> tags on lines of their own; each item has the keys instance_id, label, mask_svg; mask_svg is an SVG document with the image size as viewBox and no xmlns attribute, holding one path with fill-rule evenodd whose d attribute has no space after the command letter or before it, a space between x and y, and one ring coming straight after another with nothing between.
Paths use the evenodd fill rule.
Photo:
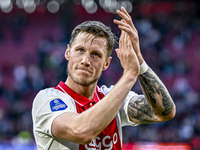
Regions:
<instances>
[{"instance_id":1,"label":"white jersey with broad red centre stripe and red collar","mask_svg":"<svg viewBox=\"0 0 200 150\"><path fill-rule=\"evenodd\" d=\"M129 120L127 114L129 100L137 95L132 91L127 95L115 119L109 125L110 127L108 126L102 131L90 144L79 145L58 139L51 133L52 122L56 117L65 112L81 113L98 103L110 92L112 87L97 87L93 101L75 93L62 81L56 88L41 90L35 97L32 107L33 132L38 150L120 150L122 147L122 126L137 125Z\"/></svg>"}]
</instances>

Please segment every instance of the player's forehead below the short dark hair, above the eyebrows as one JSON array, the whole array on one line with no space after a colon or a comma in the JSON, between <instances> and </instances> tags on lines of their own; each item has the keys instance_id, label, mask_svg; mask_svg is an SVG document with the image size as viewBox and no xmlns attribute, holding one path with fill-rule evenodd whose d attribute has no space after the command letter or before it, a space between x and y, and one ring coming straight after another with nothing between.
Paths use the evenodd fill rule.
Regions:
<instances>
[{"instance_id":1,"label":"player's forehead below the short dark hair, above the eyebrows","mask_svg":"<svg viewBox=\"0 0 200 150\"><path fill-rule=\"evenodd\" d=\"M95 36L90 33L81 32L79 33L72 43L72 46L75 45L90 45L90 46L97 46L103 49L107 48L107 39L105 37Z\"/></svg>"}]
</instances>

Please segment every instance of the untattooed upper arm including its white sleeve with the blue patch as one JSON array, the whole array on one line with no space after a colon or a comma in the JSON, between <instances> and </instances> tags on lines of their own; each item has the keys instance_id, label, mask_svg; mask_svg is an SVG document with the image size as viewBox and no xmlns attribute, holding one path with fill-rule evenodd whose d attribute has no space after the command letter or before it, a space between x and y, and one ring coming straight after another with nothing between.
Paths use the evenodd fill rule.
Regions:
<instances>
[{"instance_id":1,"label":"untattooed upper arm including its white sleeve with the blue patch","mask_svg":"<svg viewBox=\"0 0 200 150\"><path fill-rule=\"evenodd\" d=\"M57 92L53 89L43 90L35 97L32 108L34 132L37 137L48 135L71 141L75 137L74 129L78 129L76 118L80 114L70 99Z\"/></svg>"}]
</instances>

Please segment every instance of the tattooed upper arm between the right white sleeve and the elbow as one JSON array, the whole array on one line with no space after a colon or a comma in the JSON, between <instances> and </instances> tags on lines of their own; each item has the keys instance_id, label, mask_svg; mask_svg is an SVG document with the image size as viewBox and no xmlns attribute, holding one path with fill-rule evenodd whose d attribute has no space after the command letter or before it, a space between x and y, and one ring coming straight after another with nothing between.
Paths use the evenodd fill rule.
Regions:
<instances>
[{"instance_id":1,"label":"tattooed upper arm between the right white sleeve and the elbow","mask_svg":"<svg viewBox=\"0 0 200 150\"><path fill-rule=\"evenodd\" d=\"M144 95L133 96L127 109L129 119L135 123L143 124L162 121L149 105Z\"/></svg>"}]
</instances>

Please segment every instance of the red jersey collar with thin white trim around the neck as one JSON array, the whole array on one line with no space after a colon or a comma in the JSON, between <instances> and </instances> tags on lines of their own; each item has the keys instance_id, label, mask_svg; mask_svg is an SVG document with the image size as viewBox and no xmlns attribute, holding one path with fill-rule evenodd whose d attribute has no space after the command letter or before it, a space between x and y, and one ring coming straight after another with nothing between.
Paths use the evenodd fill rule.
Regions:
<instances>
[{"instance_id":1,"label":"red jersey collar with thin white trim around the neck","mask_svg":"<svg viewBox=\"0 0 200 150\"><path fill-rule=\"evenodd\" d=\"M99 101L99 97L97 96L97 87L94 93L94 98L93 100L90 100L83 95L80 95L76 92L74 92L72 89L70 89L63 81L60 81L60 83L57 85L56 89L59 89L60 91L69 94L75 102L80 105L80 106L85 106L88 103L97 103Z\"/></svg>"}]
</instances>

